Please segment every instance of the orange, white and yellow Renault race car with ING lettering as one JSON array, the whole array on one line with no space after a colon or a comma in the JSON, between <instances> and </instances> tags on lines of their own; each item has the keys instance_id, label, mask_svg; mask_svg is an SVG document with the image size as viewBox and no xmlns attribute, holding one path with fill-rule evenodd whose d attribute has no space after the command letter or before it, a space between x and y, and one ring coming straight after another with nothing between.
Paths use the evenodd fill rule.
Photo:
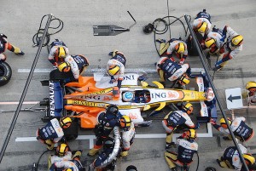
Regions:
<instances>
[{"instance_id":1,"label":"orange, white and yellow Renault race car with ING lettering","mask_svg":"<svg viewBox=\"0 0 256 171\"><path fill-rule=\"evenodd\" d=\"M94 128L96 117L108 105L118 105L122 115L131 117L135 125L148 126L151 121L144 121L142 111L150 109L162 110L166 105L177 102L200 102L201 117L209 117L207 93L201 77L196 77L199 91L187 89L164 88L154 81L154 86L141 82L138 85L137 73L126 73L122 86L116 91L109 77L95 74L94 77L79 77L79 82L67 83L61 86L60 81L49 81L49 99L42 104L49 105L46 119L52 117L73 116L79 118L81 128ZM132 98L131 98L132 96ZM127 98L130 100L127 100Z\"/></svg>"}]
</instances>

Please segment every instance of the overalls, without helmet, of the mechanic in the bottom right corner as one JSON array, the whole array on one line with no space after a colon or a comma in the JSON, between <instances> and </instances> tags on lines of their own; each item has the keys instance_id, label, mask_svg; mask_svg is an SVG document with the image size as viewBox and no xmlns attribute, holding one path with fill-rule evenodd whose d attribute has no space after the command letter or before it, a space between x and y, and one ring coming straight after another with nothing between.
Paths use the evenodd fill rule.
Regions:
<instances>
[{"instance_id":1,"label":"overalls, without helmet, of the mechanic in the bottom right corner","mask_svg":"<svg viewBox=\"0 0 256 171\"><path fill-rule=\"evenodd\" d=\"M247 153L246 147L241 144L238 145L242 154ZM237 171L240 171L242 168L241 159L239 157L236 146L230 146L226 148L224 151L224 155L220 157L217 161L218 165L222 168L231 168Z\"/></svg>"}]
</instances>

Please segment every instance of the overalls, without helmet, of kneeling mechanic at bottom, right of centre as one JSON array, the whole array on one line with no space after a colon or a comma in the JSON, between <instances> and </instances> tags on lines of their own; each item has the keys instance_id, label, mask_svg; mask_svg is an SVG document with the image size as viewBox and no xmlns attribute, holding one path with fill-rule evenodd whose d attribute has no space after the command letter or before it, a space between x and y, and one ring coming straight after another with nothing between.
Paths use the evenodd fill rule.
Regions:
<instances>
[{"instance_id":1,"label":"overalls, without helmet, of kneeling mechanic at bottom, right of centre","mask_svg":"<svg viewBox=\"0 0 256 171\"><path fill-rule=\"evenodd\" d=\"M176 168L175 164L181 167L189 166L193 162L194 153L198 150L198 144L194 140L185 140L182 136L177 138L176 144L178 145L177 153L172 151L165 152L169 168Z\"/></svg>"}]
</instances>

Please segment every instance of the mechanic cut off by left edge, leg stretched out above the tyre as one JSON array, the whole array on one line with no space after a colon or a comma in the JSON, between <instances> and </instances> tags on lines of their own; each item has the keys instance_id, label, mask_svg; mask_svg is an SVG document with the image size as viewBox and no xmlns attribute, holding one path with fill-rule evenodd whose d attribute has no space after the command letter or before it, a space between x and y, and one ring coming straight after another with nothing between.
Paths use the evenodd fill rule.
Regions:
<instances>
[{"instance_id":1,"label":"mechanic cut off by left edge, leg stretched out above the tyre","mask_svg":"<svg viewBox=\"0 0 256 171\"><path fill-rule=\"evenodd\" d=\"M17 48L8 42L7 36L5 36L3 33L0 33L0 62L6 60L6 55L3 54L6 49L14 52L17 55L24 55L24 52L22 52L20 48Z\"/></svg>"}]
</instances>

